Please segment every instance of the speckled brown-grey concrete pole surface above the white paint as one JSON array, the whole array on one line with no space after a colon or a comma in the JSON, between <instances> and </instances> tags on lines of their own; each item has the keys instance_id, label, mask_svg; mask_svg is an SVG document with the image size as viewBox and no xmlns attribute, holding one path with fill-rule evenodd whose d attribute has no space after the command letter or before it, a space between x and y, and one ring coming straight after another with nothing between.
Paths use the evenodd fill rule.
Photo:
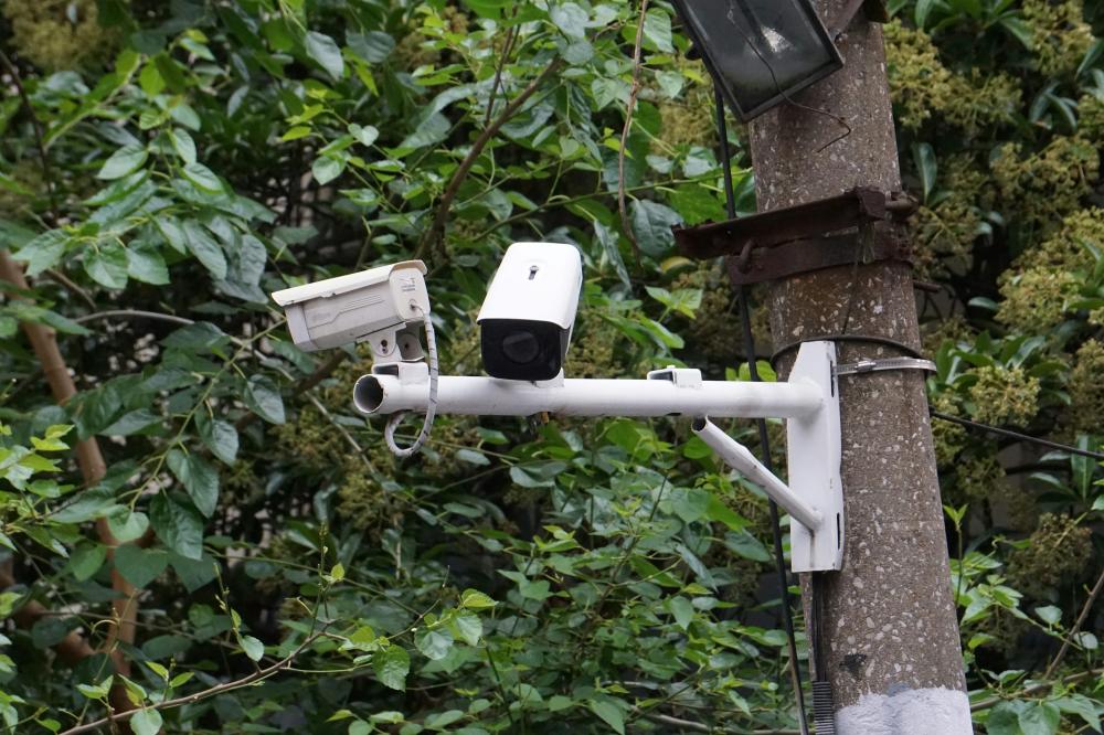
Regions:
<instances>
[{"instance_id":1,"label":"speckled brown-grey concrete pole surface above the white paint","mask_svg":"<svg viewBox=\"0 0 1104 735\"><path fill-rule=\"evenodd\" d=\"M847 3L816 4L830 25ZM831 117L783 105L758 118L752 158L761 211L854 187L901 188L881 29L860 14L839 47L843 70L796 99L845 118L851 132L824 148L845 132ZM904 265L845 266L771 288L776 347L838 333L848 311L851 333L920 347ZM900 353L840 343L839 354L849 363ZM790 355L784 372L792 363ZM907 371L840 379L847 547L842 572L827 575L824 621L824 673L837 711L863 694L965 691L923 377Z\"/></svg>"}]
</instances>

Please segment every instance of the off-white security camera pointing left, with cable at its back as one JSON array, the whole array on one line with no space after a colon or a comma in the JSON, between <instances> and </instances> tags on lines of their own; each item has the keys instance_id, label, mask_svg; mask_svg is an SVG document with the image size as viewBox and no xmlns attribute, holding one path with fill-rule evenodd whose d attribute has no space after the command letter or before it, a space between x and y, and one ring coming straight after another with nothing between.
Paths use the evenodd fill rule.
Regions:
<instances>
[{"instance_id":1,"label":"off-white security camera pointing left, with cable at its back","mask_svg":"<svg viewBox=\"0 0 1104 735\"><path fill-rule=\"evenodd\" d=\"M406 260L273 294L295 344L307 352L368 341L376 359L422 358L429 313L425 264Z\"/></svg>"}]
</instances>

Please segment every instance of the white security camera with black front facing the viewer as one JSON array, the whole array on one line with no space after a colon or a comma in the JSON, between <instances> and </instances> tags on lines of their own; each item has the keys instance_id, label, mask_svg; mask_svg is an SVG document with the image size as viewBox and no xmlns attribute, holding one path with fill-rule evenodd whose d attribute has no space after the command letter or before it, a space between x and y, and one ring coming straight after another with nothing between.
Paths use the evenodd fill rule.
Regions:
<instances>
[{"instance_id":1,"label":"white security camera with black front facing the viewer","mask_svg":"<svg viewBox=\"0 0 1104 735\"><path fill-rule=\"evenodd\" d=\"M484 368L492 377L550 381L560 374L583 287L578 251L514 243L479 311Z\"/></svg>"}]
</instances>

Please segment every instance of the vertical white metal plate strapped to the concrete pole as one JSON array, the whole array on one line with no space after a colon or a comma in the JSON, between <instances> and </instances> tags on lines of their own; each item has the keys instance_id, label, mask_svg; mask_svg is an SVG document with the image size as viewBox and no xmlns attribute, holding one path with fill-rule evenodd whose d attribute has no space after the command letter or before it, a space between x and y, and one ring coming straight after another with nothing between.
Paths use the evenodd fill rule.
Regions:
<instances>
[{"instance_id":1,"label":"vertical white metal plate strapped to the concrete pole","mask_svg":"<svg viewBox=\"0 0 1104 735\"><path fill-rule=\"evenodd\" d=\"M789 374L790 383L813 382L825 396L825 404L816 414L786 422L789 489L825 516L817 534L799 523L790 525L794 572L831 572L843 566L843 483L839 473L842 445L835 372L836 345L807 342L797 353Z\"/></svg>"}]
</instances>

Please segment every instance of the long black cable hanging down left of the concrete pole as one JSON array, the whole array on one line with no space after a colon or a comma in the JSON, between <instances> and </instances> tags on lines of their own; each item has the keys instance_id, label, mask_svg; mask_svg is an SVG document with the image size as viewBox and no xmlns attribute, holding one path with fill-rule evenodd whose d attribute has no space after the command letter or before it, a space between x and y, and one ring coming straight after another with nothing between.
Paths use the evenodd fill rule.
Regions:
<instances>
[{"instance_id":1,"label":"long black cable hanging down left of the concrete pole","mask_svg":"<svg viewBox=\"0 0 1104 735\"><path fill-rule=\"evenodd\" d=\"M729 126L724 120L724 97L721 87L713 81L713 97L716 109L716 134L721 139L721 167L724 174L724 199L729 211L729 219L736 219L736 196L732 185L732 152L729 150ZM752 333L751 308L747 301L747 287L740 287L740 321L744 332L744 352L747 355L747 366L751 371L753 382L760 382L763 377L758 373L758 365L755 361L755 335ZM756 422L758 426L760 450L762 462L768 471L774 472L774 462L771 461L771 437L767 435L766 420L761 418ZM774 560L775 571L778 575L778 586L782 594L782 617L786 626L786 641L789 648L790 677L793 678L794 699L797 703L798 723L802 734L809 734L807 716L805 714L805 692L802 689L802 664L797 659L797 635L794 631L793 595L789 594L789 578L786 575L786 555L782 546L782 521L778 516L778 505L773 500L771 508L771 531L774 536Z\"/></svg>"}]
</instances>

